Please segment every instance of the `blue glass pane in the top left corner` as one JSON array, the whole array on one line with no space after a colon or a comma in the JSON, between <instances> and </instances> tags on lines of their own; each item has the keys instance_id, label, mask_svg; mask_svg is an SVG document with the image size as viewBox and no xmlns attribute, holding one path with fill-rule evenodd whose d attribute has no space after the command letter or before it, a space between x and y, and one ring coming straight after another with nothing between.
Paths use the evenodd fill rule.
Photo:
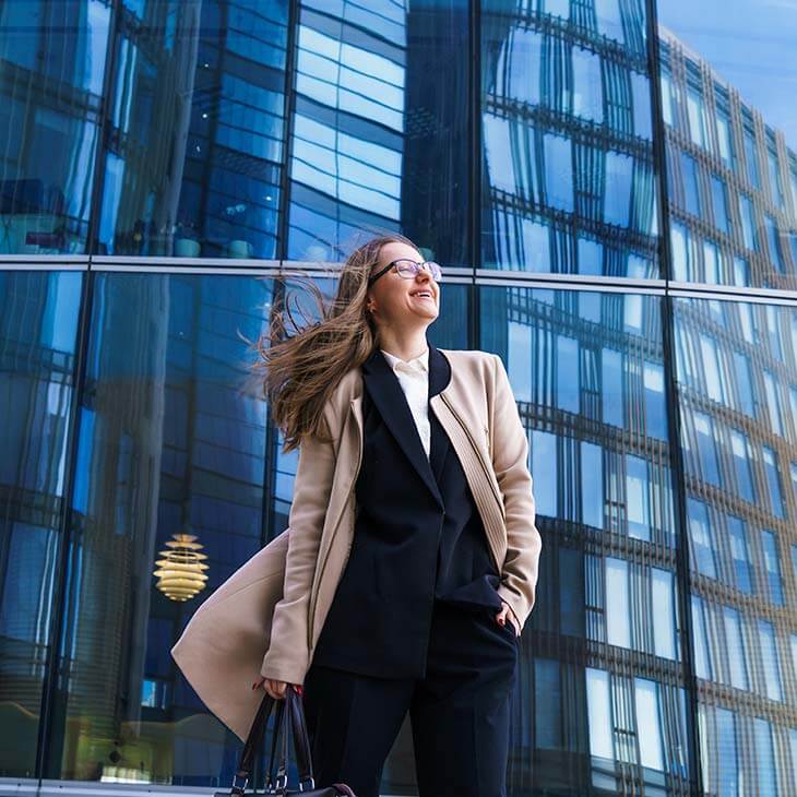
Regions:
<instances>
[{"instance_id":1,"label":"blue glass pane in the top left corner","mask_svg":"<svg viewBox=\"0 0 797 797\"><path fill-rule=\"evenodd\" d=\"M85 249L109 21L99 0L0 5L0 254Z\"/></svg>"}]
</instances>

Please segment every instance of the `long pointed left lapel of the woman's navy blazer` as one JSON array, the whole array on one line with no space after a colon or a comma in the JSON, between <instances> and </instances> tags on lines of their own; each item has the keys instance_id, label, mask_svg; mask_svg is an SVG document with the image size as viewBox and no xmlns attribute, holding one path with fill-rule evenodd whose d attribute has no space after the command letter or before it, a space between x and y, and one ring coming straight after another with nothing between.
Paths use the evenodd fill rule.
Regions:
<instances>
[{"instance_id":1,"label":"long pointed left lapel of the woman's navy blazer","mask_svg":"<svg viewBox=\"0 0 797 797\"><path fill-rule=\"evenodd\" d=\"M431 360L431 352L429 355ZM409 409L398 378L379 348L362 364L362 381L396 443L418 472L435 500L442 508L443 499L438 489L426 451L424 451L413 413Z\"/></svg>"}]
</instances>

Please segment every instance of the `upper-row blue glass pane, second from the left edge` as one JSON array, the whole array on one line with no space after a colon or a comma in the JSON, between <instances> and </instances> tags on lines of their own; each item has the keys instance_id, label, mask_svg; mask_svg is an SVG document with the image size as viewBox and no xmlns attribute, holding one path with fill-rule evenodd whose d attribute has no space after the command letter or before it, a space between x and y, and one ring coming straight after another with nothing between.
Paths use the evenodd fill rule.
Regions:
<instances>
[{"instance_id":1,"label":"upper-row blue glass pane, second from the left edge","mask_svg":"<svg viewBox=\"0 0 797 797\"><path fill-rule=\"evenodd\" d=\"M96 251L274 258L287 2L151 0L117 15Z\"/></svg>"}]
</instances>

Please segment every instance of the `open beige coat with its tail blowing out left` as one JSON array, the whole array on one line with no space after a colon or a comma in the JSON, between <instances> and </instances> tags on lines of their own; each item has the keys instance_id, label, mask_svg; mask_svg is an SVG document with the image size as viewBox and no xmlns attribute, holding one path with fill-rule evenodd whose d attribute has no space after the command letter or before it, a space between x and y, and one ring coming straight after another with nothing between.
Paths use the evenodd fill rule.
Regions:
<instances>
[{"instance_id":1,"label":"open beige coat with its tail blowing out left","mask_svg":"<svg viewBox=\"0 0 797 797\"><path fill-rule=\"evenodd\" d=\"M481 516L501 574L498 593L523 627L542 546L526 431L500 357L439 350L451 364L451 381L429 403ZM359 368L344 374L324 418L335 442L302 441L288 528L197 608L171 649L199 697L241 739L262 699L262 690L251 689L259 675L304 681L348 560L362 456Z\"/></svg>"}]
</instances>

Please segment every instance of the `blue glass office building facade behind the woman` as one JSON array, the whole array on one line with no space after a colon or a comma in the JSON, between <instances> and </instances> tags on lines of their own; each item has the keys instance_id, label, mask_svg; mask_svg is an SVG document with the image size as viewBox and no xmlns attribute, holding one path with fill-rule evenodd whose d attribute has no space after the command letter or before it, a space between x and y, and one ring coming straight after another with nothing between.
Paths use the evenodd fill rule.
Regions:
<instances>
[{"instance_id":1,"label":"blue glass office building facade behind the woman","mask_svg":"<svg viewBox=\"0 0 797 797\"><path fill-rule=\"evenodd\" d=\"M758 0L0 2L0 794L229 784L169 651L287 525L248 341L388 230L528 436L510 795L797 794L796 37Z\"/></svg>"}]
</instances>

